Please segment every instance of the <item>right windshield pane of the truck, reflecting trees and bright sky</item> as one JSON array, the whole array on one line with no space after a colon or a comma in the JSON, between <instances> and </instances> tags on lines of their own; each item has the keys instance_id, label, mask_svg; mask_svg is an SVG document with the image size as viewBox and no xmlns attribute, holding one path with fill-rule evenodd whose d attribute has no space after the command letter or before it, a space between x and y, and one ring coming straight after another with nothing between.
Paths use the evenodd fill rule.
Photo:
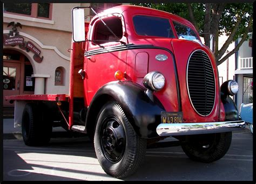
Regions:
<instances>
[{"instance_id":1,"label":"right windshield pane of the truck, reflecting trees and bright sky","mask_svg":"<svg viewBox=\"0 0 256 184\"><path fill-rule=\"evenodd\" d=\"M173 21L179 39L199 40L197 34L188 26Z\"/></svg>"}]
</instances>

